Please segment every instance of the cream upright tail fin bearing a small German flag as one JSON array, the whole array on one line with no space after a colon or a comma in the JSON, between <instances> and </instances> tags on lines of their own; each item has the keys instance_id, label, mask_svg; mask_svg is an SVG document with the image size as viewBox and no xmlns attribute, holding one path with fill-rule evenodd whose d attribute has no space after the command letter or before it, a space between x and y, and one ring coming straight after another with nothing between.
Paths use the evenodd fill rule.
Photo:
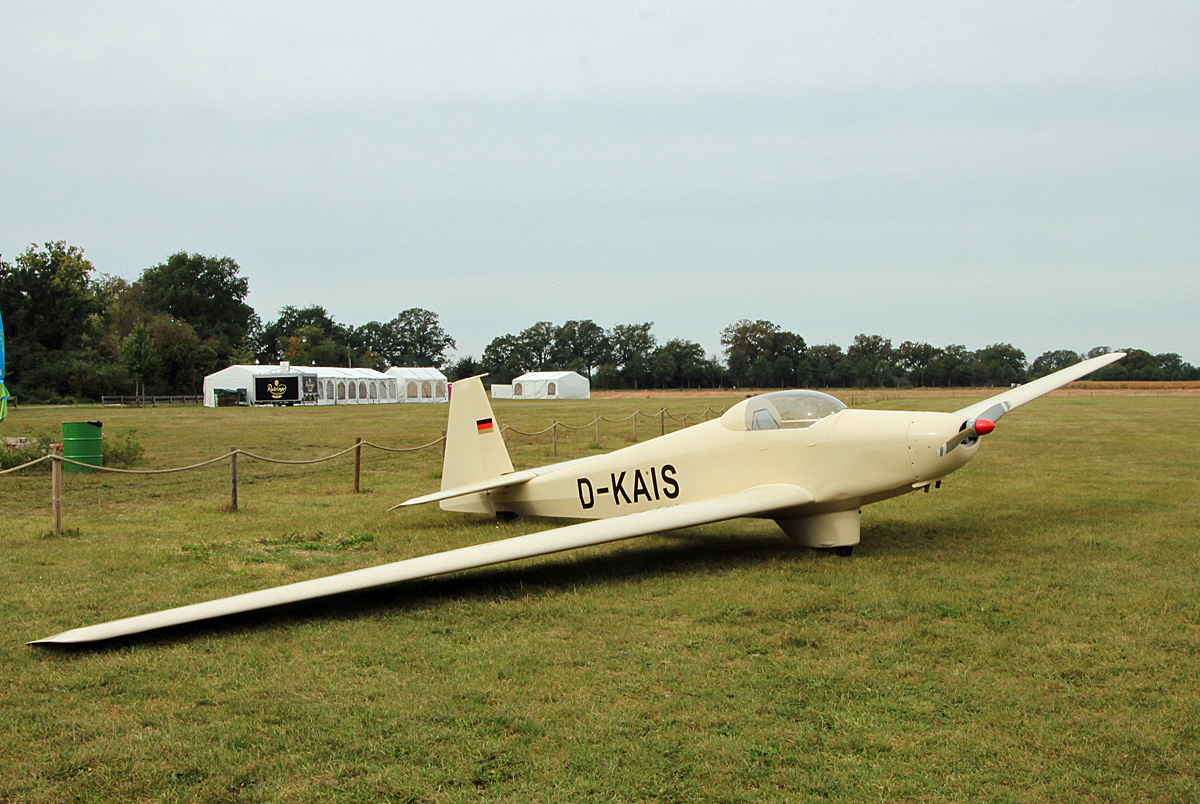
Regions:
<instances>
[{"instance_id":1,"label":"cream upright tail fin bearing a small German flag","mask_svg":"<svg viewBox=\"0 0 1200 804\"><path fill-rule=\"evenodd\" d=\"M443 491L512 472L481 378L482 374L460 379L451 389L446 455L442 462Z\"/></svg>"}]
</instances>

